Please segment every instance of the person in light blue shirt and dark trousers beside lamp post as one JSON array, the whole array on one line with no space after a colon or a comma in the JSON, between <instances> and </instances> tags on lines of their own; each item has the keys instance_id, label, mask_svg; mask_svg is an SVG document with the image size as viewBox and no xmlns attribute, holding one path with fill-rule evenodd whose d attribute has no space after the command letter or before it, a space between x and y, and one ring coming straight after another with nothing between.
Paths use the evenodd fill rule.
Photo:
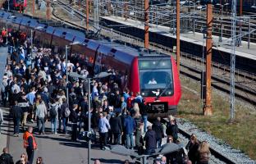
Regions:
<instances>
[{"instance_id":1,"label":"person in light blue shirt and dark trousers beside lamp post","mask_svg":"<svg viewBox=\"0 0 256 164\"><path fill-rule=\"evenodd\" d=\"M100 140L100 147L102 150L105 150L107 146L107 132L110 129L109 122L106 116L103 116L103 113L99 114L99 121L98 121L98 130L99 130L99 140Z\"/></svg>"}]
</instances>

